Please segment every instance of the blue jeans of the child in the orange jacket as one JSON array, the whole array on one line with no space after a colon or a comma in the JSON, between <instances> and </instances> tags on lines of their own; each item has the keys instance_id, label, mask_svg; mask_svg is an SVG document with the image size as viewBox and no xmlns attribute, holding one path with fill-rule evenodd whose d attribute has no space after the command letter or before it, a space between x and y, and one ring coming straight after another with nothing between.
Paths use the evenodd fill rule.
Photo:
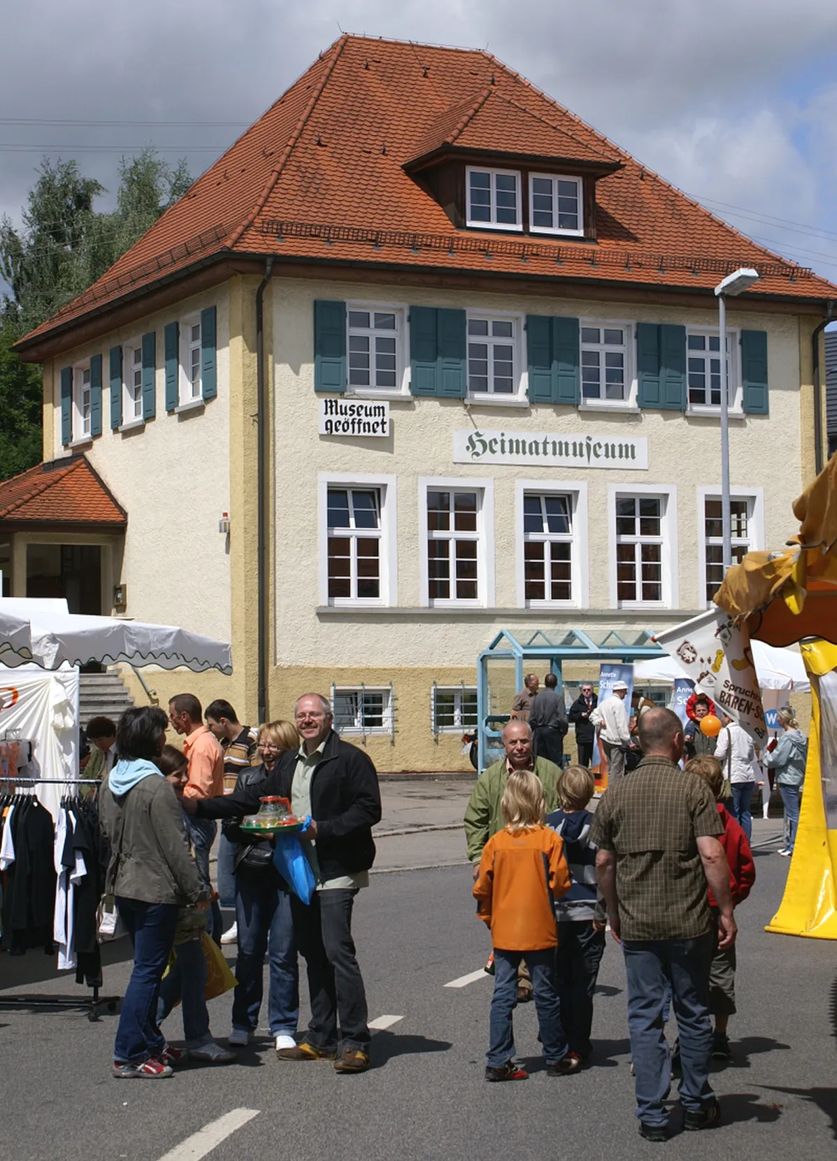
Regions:
<instances>
[{"instance_id":1,"label":"blue jeans of the child in the orange jacket","mask_svg":"<svg viewBox=\"0 0 837 1161\"><path fill-rule=\"evenodd\" d=\"M560 1063L567 1055L567 1040L561 1024L561 1002L555 988L555 949L543 951L498 951L495 947L495 994L489 1021L489 1068L502 1068L514 1058L512 1011L518 996L518 965L526 960L541 1033L543 1058L548 1065Z\"/></svg>"}]
</instances>

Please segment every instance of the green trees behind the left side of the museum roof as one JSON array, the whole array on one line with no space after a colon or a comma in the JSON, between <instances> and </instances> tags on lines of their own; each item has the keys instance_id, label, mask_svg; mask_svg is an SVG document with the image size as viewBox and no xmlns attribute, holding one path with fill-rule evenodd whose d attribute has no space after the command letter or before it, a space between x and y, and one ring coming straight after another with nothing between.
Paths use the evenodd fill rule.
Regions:
<instances>
[{"instance_id":1,"label":"green trees behind the left side of the museum roof","mask_svg":"<svg viewBox=\"0 0 837 1161\"><path fill-rule=\"evenodd\" d=\"M107 190L75 161L44 159L15 230L0 219L0 274L10 288L0 307L0 479L41 460L41 368L10 351L28 331L92 286L192 185L152 149L120 161L116 208L99 212Z\"/></svg>"}]
</instances>

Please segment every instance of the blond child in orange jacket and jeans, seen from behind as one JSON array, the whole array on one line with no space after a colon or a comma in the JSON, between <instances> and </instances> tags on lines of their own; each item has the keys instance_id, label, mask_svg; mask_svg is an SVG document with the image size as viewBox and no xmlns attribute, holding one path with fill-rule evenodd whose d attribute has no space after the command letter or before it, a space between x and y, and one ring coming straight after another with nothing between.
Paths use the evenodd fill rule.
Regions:
<instances>
[{"instance_id":1,"label":"blond child in orange jacket and jeans, seen from behind","mask_svg":"<svg viewBox=\"0 0 837 1161\"><path fill-rule=\"evenodd\" d=\"M543 787L529 771L508 776L500 810L506 825L485 844L474 884L477 915L491 929L495 950L485 1080L517 1081L528 1076L513 1061L512 1011L521 959L526 959L532 976L547 1074L564 1076L577 1067L567 1059L555 988L558 939L554 903L570 888L564 843L543 824Z\"/></svg>"}]
</instances>

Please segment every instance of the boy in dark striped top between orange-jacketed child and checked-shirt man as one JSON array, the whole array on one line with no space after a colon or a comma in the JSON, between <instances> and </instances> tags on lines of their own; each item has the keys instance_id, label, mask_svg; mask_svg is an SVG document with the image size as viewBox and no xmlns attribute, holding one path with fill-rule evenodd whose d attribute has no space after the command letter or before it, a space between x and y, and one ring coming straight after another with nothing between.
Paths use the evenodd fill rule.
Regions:
<instances>
[{"instance_id":1,"label":"boy in dark striped top between orange-jacketed child and checked-shirt man","mask_svg":"<svg viewBox=\"0 0 837 1161\"><path fill-rule=\"evenodd\" d=\"M590 842L593 815L587 810L596 779L584 766L568 766L558 781L561 809L547 815L564 841L570 868L570 889L555 902L558 947L555 976L561 1000L561 1021L567 1033L568 1057L580 1067L593 1052L593 993L605 952L605 910L597 907L596 846Z\"/></svg>"}]
</instances>

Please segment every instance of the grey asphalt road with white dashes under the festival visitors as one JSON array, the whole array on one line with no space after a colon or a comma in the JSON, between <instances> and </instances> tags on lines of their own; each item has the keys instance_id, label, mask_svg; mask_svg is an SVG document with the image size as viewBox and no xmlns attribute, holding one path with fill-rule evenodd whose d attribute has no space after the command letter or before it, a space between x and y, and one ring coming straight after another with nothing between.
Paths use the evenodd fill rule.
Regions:
<instances>
[{"instance_id":1,"label":"grey asphalt road with white dashes under the festival visitors","mask_svg":"<svg viewBox=\"0 0 837 1161\"><path fill-rule=\"evenodd\" d=\"M773 824L763 825L775 831ZM763 926L781 896L787 860L758 854L757 872L753 896L738 913L739 1011L730 1024L735 1060L715 1076L724 1117L717 1131L680 1134L666 1146L638 1138L625 973L613 943L599 978L594 1067L560 1080L540 1072L535 1014L526 1005L515 1031L531 1079L485 1083L490 979L445 987L478 969L489 950L474 916L469 870L460 866L375 875L359 897L355 933L370 1017L399 1017L376 1032L374 1067L362 1075L340 1076L327 1063L280 1063L265 1037L240 1052L238 1065L186 1067L156 1084L117 1083L109 1074L113 1016L94 1024L78 1012L0 1010L0 1159L486 1161L503 1155L526 1161L618 1155L630 1161L661 1148L709 1161L831 1159L837 1138L835 949L766 935ZM106 972L108 991L124 989L127 952L118 944L108 950L115 960ZM38 974L37 965L31 969ZM0 987L9 987L8 978ZM73 987L64 978L31 990L67 993ZM229 997L210 1005L219 1038L229 1030ZM167 1032L173 1043L182 1034L176 1014ZM236 1119L234 1110L255 1115ZM201 1149L214 1137L189 1140L230 1113L232 1120L216 1137L246 1123L211 1152ZM678 1112L673 1119L679 1123Z\"/></svg>"}]
</instances>

